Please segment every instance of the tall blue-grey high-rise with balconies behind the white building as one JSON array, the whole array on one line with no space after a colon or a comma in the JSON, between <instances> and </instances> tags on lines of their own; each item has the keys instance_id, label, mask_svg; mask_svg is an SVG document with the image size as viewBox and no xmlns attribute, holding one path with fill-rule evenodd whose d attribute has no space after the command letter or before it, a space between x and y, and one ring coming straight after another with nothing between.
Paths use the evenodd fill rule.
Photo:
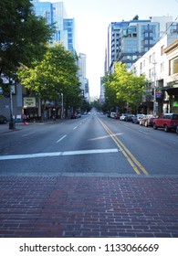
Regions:
<instances>
[{"instance_id":1,"label":"tall blue-grey high-rise with balconies behind the white building","mask_svg":"<svg viewBox=\"0 0 178 256\"><path fill-rule=\"evenodd\" d=\"M114 62L126 63L128 69L173 29L173 16L112 22L108 28L105 73L114 70Z\"/></svg>"}]
</instances>

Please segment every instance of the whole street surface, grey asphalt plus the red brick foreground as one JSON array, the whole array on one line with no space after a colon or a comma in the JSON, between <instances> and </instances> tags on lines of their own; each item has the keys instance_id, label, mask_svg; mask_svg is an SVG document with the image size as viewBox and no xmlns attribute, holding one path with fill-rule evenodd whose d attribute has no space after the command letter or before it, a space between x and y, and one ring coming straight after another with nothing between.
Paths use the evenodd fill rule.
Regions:
<instances>
[{"instance_id":1,"label":"whole street surface, grey asphalt plus the red brick foreground","mask_svg":"<svg viewBox=\"0 0 178 256\"><path fill-rule=\"evenodd\" d=\"M0 125L0 237L178 238L177 140L99 112Z\"/></svg>"}]
</instances>

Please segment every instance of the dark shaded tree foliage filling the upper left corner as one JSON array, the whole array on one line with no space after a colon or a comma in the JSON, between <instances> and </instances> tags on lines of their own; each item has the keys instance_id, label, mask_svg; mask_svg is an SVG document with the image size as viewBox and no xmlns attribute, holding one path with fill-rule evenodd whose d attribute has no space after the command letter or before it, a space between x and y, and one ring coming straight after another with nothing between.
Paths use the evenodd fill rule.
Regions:
<instances>
[{"instance_id":1,"label":"dark shaded tree foliage filling the upper left corner","mask_svg":"<svg viewBox=\"0 0 178 256\"><path fill-rule=\"evenodd\" d=\"M21 64L30 67L41 59L53 32L46 19L35 16L30 0L1 0L1 73L16 73Z\"/></svg>"}]
</instances>

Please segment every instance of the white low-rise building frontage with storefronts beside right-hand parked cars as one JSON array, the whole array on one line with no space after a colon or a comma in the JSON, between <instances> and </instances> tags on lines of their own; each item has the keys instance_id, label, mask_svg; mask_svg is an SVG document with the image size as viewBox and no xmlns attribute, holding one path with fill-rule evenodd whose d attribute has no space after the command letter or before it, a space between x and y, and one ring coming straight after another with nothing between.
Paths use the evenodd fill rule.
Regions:
<instances>
[{"instance_id":1,"label":"white low-rise building frontage with storefronts beside right-hand parked cars","mask_svg":"<svg viewBox=\"0 0 178 256\"><path fill-rule=\"evenodd\" d=\"M162 37L131 66L136 76L144 75L148 80L141 101L143 113L160 115L162 112L172 112L173 106L176 107L178 102L177 41L178 36L175 33Z\"/></svg>"}]
</instances>

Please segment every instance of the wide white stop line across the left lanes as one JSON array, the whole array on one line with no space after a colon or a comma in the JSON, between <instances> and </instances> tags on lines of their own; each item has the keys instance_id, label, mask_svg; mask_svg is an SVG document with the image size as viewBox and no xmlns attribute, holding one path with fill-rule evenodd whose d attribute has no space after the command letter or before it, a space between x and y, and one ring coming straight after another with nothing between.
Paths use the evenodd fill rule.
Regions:
<instances>
[{"instance_id":1,"label":"wide white stop line across the left lanes","mask_svg":"<svg viewBox=\"0 0 178 256\"><path fill-rule=\"evenodd\" d=\"M67 151L67 152L38 153L38 154L30 154L30 155L2 155L0 156L0 161L37 158L37 157L49 157L49 156L51 157L51 156L66 156L66 155L118 153L119 151L120 150L118 148L111 148L111 149L93 149L93 150L79 150L79 151Z\"/></svg>"}]
</instances>

